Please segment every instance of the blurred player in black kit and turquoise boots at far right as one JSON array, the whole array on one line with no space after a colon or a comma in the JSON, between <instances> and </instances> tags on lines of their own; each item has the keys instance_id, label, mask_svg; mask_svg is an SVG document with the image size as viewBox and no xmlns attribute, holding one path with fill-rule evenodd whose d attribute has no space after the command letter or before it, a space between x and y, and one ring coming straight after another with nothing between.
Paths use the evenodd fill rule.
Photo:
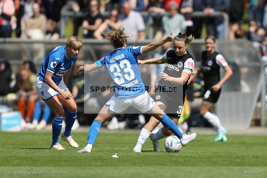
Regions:
<instances>
[{"instance_id":1,"label":"blurred player in black kit and turquoise boots at far right","mask_svg":"<svg viewBox=\"0 0 267 178\"><path fill-rule=\"evenodd\" d=\"M206 51L201 54L202 67L198 72L203 73L204 85L204 96L203 102L200 107L200 114L208 120L208 122L217 130L217 136L215 142L226 142L227 137L225 136L226 130L221 125L218 116L214 113L214 104L218 101L222 85L231 77L233 74L232 69L225 61L225 58L215 51L216 39L214 36L209 35L205 39ZM225 70L225 75L220 79L220 67Z\"/></svg>"}]
</instances>

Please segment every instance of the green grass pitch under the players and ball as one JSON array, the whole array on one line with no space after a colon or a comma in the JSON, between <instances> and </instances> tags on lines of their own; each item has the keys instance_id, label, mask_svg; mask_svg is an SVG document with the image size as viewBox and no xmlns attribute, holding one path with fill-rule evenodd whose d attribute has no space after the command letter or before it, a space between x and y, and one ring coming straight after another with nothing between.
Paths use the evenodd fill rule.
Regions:
<instances>
[{"instance_id":1,"label":"green grass pitch under the players and ball","mask_svg":"<svg viewBox=\"0 0 267 178\"><path fill-rule=\"evenodd\" d=\"M154 152L148 139L142 153L132 153L136 132L101 132L92 153L76 151L87 144L86 132L73 132L79 148L49 150L51 131L0 132L0 177L28 177L26 174L4 174L4 171L68 171L50 177L250 177L245 171L262 171L254 176L267 176L267 136L227 135L228 142L214 142L214 135L198 135L178 153L164 149ZM117 153L119 158L111 156ZM177 174L176 174L177 172ZM45 173L46 174L46 173ZM46 177L47 174L38 177ZM127 176L125 176L127 175ZM179 176L178 176L179 175ZM264 176L265 175L265 176ZM33 175L31 175L33 176ZM34 175L34 177L36 177ZM79 176L78 176L79 177Z\"/></svg>"}]
</instances>

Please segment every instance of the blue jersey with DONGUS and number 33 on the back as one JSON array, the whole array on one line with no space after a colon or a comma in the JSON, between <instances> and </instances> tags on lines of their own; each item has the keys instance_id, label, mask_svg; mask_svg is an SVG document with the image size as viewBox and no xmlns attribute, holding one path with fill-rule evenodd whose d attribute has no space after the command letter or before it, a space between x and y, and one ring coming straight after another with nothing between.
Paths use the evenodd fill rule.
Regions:
<instances>
[{"instance_id":1,"label":"blue jersey with DONGUS and number 33 on the back","mask_svg":"<svg viewBox=\"0 0 267 178\"><path fill-rule=\"evenodd\" d=\"M137 56L142 54L142 46L118 48L99 59L98 68L105 65L110 77L118 85L116 97L132 97L145 93L146 88L140 76Z\"/></svg>"}]
</instances>

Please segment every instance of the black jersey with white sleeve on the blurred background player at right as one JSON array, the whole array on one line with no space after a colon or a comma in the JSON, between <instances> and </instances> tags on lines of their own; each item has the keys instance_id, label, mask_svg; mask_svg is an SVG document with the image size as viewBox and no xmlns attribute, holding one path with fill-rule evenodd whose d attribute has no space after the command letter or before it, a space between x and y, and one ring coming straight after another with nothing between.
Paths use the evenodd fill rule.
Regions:
<instances>
[{"instance_id":1,"label":"black jersey with white sleeve on the blurred background player at right","mask_svg":"<svg viewBox=\"0 0 267 178\"><path fill-rule=\"evenodd\" d=\"M203 51L201 60L205 88L217 84L220 81L220 67L228 65L224 57L217 51L209 56L207 55L207 51Z\"/></svg>"}]
</instances>

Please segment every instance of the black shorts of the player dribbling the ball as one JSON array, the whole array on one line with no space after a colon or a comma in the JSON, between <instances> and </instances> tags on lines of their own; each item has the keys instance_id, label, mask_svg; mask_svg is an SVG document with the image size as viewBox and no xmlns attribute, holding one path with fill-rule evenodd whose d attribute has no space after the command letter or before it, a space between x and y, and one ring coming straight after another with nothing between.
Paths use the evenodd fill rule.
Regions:
<instances>
[{"instance_id":1,"label":"black shorts of the player dribbling the ball","mask_svg":"<svg viewBox=\"0 0 267 178\"><path fill-rule=\"evenodd\" d=\"M171 95L167 92L155 92L155 95L153 96L153 100L155 102L160 101L165 105L166 115L178 119L181 117L181 112L184 105L184 98L185 93L183 94L183 96L177 96L177 94Z\"/></svg>"}]
</instances>

